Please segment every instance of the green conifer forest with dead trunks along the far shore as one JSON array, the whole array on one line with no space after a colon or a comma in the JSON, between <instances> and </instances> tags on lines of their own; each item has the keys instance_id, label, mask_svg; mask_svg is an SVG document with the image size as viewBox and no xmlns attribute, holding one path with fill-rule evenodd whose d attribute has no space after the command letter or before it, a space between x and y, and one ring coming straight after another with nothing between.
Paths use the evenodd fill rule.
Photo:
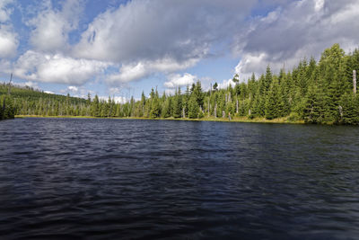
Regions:
<instances>
[{"instance_id":1,"label":"green conifer forest with dead trunks along the far shore","mask_svg":"<svg viewBox=\"0 0 359 240\"><path fill-rule=\"evenodd\" d=\"M319 62L303 58L296 67L278 74L267 71L254 74L247 82L233 77L235 84L219 89L213 84L204 91L201 83L180 88L173 95L131 97L118 103L109 97L101 100L90 94L87 99L43 93L30 87L0 84L2 118L13 115L88 116L101 118L149 119L232 119L246 118L306 123L359 124L359 97L356 95L355 71L359 69L359 50L345 53L338 44L325 49ZM5 106L5 107L4 107Z\"/></svg>"}]
</instances>

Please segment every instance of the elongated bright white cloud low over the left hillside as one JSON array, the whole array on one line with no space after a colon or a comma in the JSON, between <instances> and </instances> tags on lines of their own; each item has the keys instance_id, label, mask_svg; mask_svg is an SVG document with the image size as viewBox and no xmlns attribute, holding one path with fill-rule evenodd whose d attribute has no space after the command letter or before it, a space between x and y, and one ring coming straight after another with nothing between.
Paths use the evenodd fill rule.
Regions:
<instances>
[{"instance_id":1,"label":"elongated bright white cloud low over the left hillside","mask_svg":"<svg viewBox=\"0 0 359 240\"><path fill-rule=\"evenodd\" d=\"M108 64L100 61L28 50L17 60L13 74L32 81L81 85L106 67Z\"/></svg>"}]
</instances>

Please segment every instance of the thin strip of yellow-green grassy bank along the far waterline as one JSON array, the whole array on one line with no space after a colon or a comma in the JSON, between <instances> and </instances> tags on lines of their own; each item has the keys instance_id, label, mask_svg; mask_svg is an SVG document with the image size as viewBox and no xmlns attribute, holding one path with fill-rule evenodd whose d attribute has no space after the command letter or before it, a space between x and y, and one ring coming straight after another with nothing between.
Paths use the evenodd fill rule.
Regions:
<instances>
[{"instance_id":1,"label":"thin strip of yellow-green grassy bank along the far waterline","mask_svg":"<svg viewBox=\"0 0 359 240\"><path fill-rule=\"evenodd\" d=\"M60 118L60 119L102 119L95 118L91 116L41 116L41 115L16 115L15 118ZM225 121L225 122L257 122L257 123L291 123L291 124L303 124L303 120L291 121L288 118L280 118L275 120L266 120L266 118L254 118L250 119L248 117L234 117L232 120L228 118L214 118L214 117L204 117L202 119L175 119L175 118L103 118L103 119L118 119L118 120L197 120L197 121Z\"/></svg>"}]
</instances>

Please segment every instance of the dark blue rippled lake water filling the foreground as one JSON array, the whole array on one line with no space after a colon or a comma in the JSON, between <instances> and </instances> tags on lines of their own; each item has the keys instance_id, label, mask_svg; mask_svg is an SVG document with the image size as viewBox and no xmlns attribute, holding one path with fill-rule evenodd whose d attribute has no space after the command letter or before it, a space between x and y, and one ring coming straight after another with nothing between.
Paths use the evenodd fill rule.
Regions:
<instances>
[{"instance_id":1,"label":"dark blue rippled lake water filling the foreground","mask_svg":"<svg viewBox=\"0 0 359 240\"><path fill-rule=\"evenodd\" d=\"M359 129L0 121L0 239L355 239Z\"/></svg>"}]
</instances>

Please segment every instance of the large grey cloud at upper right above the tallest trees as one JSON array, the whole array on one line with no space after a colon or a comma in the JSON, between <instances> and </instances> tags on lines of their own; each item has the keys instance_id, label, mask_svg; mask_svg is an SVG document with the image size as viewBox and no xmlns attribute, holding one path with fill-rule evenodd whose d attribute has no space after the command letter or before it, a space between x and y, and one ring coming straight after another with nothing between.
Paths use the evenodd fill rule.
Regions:
<instances>
[{"instance_id":1,"label":"large grey cloud at upper right above the tallest trees","mask_svg":"<svg viewBox=\"0 0 359 240\"><path fill-rule=\"evenodd\" d=\"M278 71L291 68L301 58L319 58L334 43L355 49L359 39L355 0L302 0L278 7L250 22L236 36L234 52L241 56L235 68L240 76L263 73L270 65Z\"/></svg>"}]
</instances>

